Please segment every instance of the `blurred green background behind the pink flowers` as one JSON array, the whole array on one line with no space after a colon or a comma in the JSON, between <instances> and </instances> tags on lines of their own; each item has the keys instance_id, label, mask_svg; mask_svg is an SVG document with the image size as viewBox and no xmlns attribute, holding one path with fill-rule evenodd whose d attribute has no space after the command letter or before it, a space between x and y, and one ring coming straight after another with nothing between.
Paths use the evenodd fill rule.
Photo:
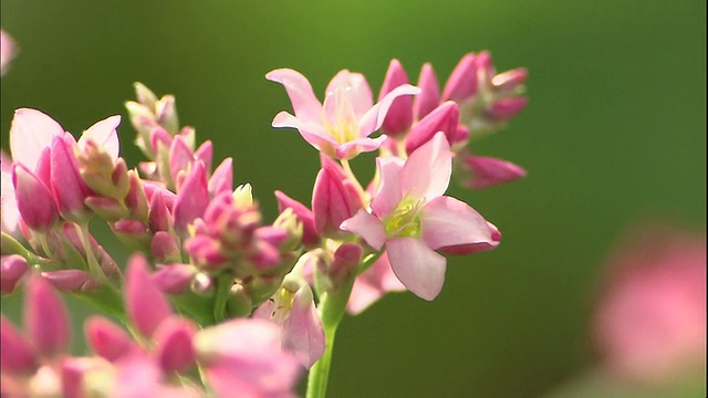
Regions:
<instances>
[{"instance_id":1,"label":"blurred green background behind the pink flowers","mask_svg":"<svg viewBox=\"0 0 708 398\"><path fill-rule=\"evenodd\" d=\"M22 106L74 133L125 116L140 81L176 95L180 122L215 142L215 159L233 157L236 181L272 220L274 189L309 202L319 158L295 130L270 127L291 107L268 71L301 71L321 96L341 69L377 93L392 57L414 81L424 62L444 80L485 49L499 71L527 66L528 108L476 151L529 176L449 190L502 244L450 259L431 303L395 294L346 318L330 392L534 397L592 364L595 279L622 231L647 219L705 229L705 14L699 0L4 0L20 53L2 77L2 143ZM119 135L135 166L127 119Z\"/></svg>"}]
</instances>

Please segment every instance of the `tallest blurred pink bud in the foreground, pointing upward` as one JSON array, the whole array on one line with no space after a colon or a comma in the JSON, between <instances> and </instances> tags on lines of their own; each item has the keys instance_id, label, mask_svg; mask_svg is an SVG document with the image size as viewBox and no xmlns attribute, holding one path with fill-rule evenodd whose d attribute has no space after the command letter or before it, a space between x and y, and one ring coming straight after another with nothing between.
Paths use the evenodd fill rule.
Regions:
<instances>
[{"instance_id":1,"label":"tallest blurred pink bud in the foreground, pointing upward","mask_svg":"<svg viewBox=\"0 0 708 398\"><path fill-rule=\"evenodd\" d=\"M157 326L171 314L169 303L152 281L147 260L142 254L134 254L128 259L125 307L131 322L145 337L150 337Z\"/></svg>"}]
</instances>

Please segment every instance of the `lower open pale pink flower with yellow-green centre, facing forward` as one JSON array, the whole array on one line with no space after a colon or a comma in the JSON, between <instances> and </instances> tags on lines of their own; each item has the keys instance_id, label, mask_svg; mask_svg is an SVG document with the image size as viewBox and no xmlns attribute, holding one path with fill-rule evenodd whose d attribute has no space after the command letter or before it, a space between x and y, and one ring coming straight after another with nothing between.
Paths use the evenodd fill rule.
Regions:
<instances>
[{"instance_id":1,"label":"lower open pale pink flower with yellow-green centre, facing forward","mask_svg":"<svg viewBox=\"0 0 708 398\"><path fill-rule=\"evenodd\" d=\"M378 158L381 186L372 212L360 210L341 226L375 250L385 244L398 280L425 300L435 298L445 281L447 261L436 250L464 254L499 242L496 228L475 209L442 196L450 181L451 156L445 134L438 133L405 164Z\"/></svg>"}]
</instances>

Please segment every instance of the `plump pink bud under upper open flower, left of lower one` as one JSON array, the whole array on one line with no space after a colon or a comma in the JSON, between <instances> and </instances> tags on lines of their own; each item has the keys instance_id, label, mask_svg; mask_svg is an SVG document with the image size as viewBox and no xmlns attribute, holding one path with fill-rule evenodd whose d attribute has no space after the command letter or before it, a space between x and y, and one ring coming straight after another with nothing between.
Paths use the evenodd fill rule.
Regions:
<instances>
[{"instance_id":1,"label":"plump pink bud under upper open flower, left of lower one","mask_svg":"<svg viewBox=\"0 0 708 398\"><path fill-rule=\"evenodd\" d=\"M358 193L334 160L322 157L322 169L314 181L312 212L317 232L340 232L340 224L362 208Z\"/></svg>"}]
</instances>

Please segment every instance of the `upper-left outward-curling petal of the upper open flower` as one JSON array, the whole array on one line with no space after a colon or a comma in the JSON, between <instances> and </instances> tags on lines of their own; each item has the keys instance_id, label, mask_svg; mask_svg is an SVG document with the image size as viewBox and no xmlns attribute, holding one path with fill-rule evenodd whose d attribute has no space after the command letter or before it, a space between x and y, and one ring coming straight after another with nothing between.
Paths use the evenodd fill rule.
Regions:
<instances>
[{"instance_id":1,"label":"upper-left outward-curling petal of the upper open flower","mask_svg":"<svg viewBox=\"0 0 708 398\"><path fill-rule=\"evenodd\" d=\"M271 82L282 84L290 96L292 108L298 118L303 121L319 121L322 104L312 92L312 86L305 76L291 69L279 69L266 75Z\"/></svg>"}]
</instances>

